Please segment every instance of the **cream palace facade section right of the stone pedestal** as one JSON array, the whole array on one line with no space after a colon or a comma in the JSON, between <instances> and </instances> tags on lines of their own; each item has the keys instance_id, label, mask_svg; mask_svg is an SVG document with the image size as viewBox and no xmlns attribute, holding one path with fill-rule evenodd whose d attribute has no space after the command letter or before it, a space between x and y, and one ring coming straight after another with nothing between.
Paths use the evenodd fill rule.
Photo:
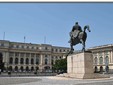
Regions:
<instances>
[{"instance_id":1,"label":"cream palace facade section right of the stone pedestal","mask_svg":"<svg viewBox=\"0 0 113 85\"><path fill-rule=\"evenodd\" d=\"M93 53L94 70L113 73L113 44L96 46L88 50Z\"/></svg>"}]
</instances>

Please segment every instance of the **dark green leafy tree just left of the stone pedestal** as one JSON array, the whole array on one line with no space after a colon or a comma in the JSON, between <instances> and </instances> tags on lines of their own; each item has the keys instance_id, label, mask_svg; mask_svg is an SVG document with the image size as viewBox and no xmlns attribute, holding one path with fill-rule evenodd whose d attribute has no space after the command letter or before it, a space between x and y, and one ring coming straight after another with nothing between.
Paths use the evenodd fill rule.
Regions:
<instances>
[{"instance_id":1,"label":"dark green leafy tree just left of the stone pedestal","mask_svg":"<svg viewBox=\"0 0 113 85\"><path fill-rule=\"evenodd\" d=\"M55 64L53 65L53 70L57 70L57 72L59 70L62 72L66 72L67 71L67 59L56 60Z\"/></svg>"}]
</instances>

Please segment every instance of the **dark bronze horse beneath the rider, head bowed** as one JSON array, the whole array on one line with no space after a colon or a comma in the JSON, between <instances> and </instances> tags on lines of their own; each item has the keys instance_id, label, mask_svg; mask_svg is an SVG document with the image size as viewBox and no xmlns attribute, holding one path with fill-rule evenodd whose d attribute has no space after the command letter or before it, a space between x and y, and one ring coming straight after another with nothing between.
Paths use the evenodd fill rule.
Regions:
<instances>
[{"instance_id":1,"label":"dark bronze horse beneath the rider, head bowed","mask_svg":"<svg viewBox=\"0 0 113 85\"><path fill-rule=\"evenodd\" d=\"M83 31L79 32L78 36L75 38L73 37L75 32L70 32L70 47L71 47L71 50L70 50L70 53L73 53L74 51L74 48L73 46L74 45L77 45L79 43L81 43L83 45L82 47L82 51L84 52L85 51L85 42L86 42L86 39L87 39L87 33L86 33L86 29L91 32L90 28L89 28L89 25L86 25L84 26L84 29Z\"/></svg>"}]
</instances>

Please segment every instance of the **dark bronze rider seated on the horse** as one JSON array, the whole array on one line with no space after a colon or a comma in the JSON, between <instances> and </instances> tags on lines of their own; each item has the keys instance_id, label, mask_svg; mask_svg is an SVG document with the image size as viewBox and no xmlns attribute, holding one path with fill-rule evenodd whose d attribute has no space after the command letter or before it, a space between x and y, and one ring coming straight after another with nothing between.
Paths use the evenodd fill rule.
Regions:
<instances>
[{"instance_id":1,"label":"dark bronze rider seated on the horse","mask_svg":"<svg viewBox=\"0 0 113 85\"><path fill-rule=\"evenodd\" d=\"M71 39L77 38L77 36L79 35L80 32L82 32L82 28L78 24L78 22L76 22L72 28L72 31L70 32ZM71 42L71 40L69 42Z\"/></svg>"}]
</instances>

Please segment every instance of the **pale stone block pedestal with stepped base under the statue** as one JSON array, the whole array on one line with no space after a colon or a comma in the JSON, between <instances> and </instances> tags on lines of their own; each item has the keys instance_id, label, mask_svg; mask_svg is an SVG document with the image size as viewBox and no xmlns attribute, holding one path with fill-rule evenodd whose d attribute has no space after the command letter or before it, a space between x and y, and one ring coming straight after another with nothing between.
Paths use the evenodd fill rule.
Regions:
<instances>
[{"instance_id":1,"label":"pale stone block pedestal with stepped base under the statue","mask_svg":"<svg viewBox=\"0 0 113 85\"><path fill-rule=\"evenodd\" d=\"M70 54L67 57L67 73L61 76L80 79L109 78L108 75L94 73L91 52Z\"/></svg>"}]
</instances>

